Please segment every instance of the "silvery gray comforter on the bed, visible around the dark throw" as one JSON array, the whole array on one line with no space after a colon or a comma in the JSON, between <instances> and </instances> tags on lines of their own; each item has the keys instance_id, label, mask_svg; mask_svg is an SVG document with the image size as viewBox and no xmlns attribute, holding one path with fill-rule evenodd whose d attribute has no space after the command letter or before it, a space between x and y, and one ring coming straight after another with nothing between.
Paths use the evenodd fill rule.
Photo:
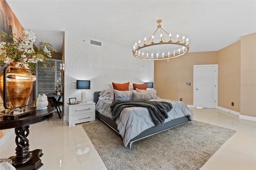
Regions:
<instances>
[{"instance_id":1,"label":"silvery gray comforter on the bed, visible around the dark throw","mask_svg":"<svg viewBox=\"0 0 256 170\"><path fill-rule=\"evenodd\" d=\"M100 100L96 104L96 111L100 114L112 118L110 105L113 100L105 99ZM171 121L172 119L189 116L189 119L193 119L193 114L185 103L182 101L174 101L169 99L152 99L150 101L165 101L172 104L172 109L169 111L168 118L164 123ZM138 136L144 130L154 127L147 108L144 107L127 107L124 108L120 116L116 119L117 128L120 135L123 138L124 146L126 147L130 140L135 136Z\"/></svg>"}]
</instances>

